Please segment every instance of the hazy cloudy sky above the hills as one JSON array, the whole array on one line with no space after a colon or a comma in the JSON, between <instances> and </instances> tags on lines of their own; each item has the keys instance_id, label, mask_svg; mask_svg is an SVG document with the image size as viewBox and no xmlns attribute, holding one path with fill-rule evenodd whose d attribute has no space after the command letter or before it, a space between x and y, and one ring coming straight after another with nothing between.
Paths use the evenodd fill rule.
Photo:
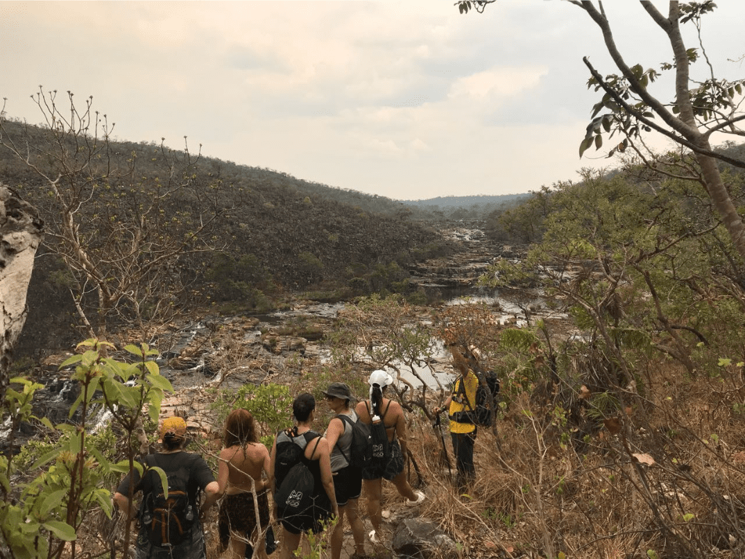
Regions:
<instances>
[{"instance_id":1,"label":"hazy cloudy sky above the hills","mask_svg":"<svg viewBox=\"0 0 745 559\"><path fill-rule=\"evenodd\" d=\"M638 2L605 4L627 61L671 60ZM742 78L745 2L718 4L709 60ZM618 165L579 157L600 99L583 56L615 71L600 30L562 0L466 15L454 0L0 0L8 116L39 124L39 86L92 95L114 139L180 149L186 136L208 157L395 200L519 194Z\"/></svg>"}]
</instances>

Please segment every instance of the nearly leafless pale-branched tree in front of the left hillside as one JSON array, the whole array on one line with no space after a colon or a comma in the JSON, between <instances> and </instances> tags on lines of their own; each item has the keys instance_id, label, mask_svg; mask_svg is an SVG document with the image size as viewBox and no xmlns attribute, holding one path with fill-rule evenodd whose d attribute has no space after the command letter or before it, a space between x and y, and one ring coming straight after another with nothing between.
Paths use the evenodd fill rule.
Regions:
<instances>
[{"instance_id":1,"label":"nearly leafless pale-branched tree in front of the left hillside","mask_svg":"<svg viewBox=\"0 0 745 559\"><path fill-rule=\"evenodd\" d=\"M188 288L180 259L215 250L212 225L225 211L218 185L197 180L199 154L152 145L147 165L135 152L115 153L113 124L92 110L57 104L57 92L31 96L45 127L0 119L0 145L41 179L21 186L48 221L46 247L65 265L69 288L89 335L105 335L116 316L144 332L175 312ZM43 193L44 195L39 195Z\"/></svg>"}]
</instances>

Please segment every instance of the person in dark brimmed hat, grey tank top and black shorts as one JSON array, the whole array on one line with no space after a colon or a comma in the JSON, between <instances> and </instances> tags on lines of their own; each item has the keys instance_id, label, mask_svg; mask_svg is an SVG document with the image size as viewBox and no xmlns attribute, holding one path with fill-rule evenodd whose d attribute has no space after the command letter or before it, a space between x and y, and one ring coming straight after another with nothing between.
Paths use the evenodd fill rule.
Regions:
<instances>
[{"instance_id":1,"label":"person in dark brimmed hat, grey tank top and black shorts","mask_svg":"<svg viewBox=\"0 0 745 559\"><path fill-rule=\"evenodd\" d=\"M332 382L323 391L329 408L336 416L349 417L352 423L358 420L357 412L349 408L352 391L343 382ZM355 553L350 559L365 557L365 528L358 514L358 501L362 493L362 470L352 465L352 425L333 417L324 433L329 441L331 452L331 471L334 474L334 490L336 504L339 508L339 521L331 537L332 559L340 559L341 546L344 538L344 517L349 520L352 537L355 539Z\"/></svg>"}]
</instances>

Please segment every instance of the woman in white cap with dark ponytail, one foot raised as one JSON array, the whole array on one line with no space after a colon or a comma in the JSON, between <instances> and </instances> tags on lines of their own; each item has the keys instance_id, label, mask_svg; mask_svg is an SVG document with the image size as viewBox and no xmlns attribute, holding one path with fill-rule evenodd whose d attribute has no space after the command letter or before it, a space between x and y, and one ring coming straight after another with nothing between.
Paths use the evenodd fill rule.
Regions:
<instances>
[{"instance_id":1,"label":"woman in white cap with dark ponytail, one foot raised","mask_svg":"<svg viewBox=\"0 0 745 559\"><path fill-rule=\"evenodd\" d=\"M362 423L374 426L382 423L387 435L388 452L384 461L373 461L370 467L362 470L362 483L367 494L367 514L373 523L370 541L378 543L381 534L381 490L382 479L392 481L399 494L405 497L406 505L413 507L425 499L421 491L414 493L406 481L404 463L406 456L406 422L404 411L398 402L385 398L386 388L393 384L393 377L384 370L374 370L368 379L370 400L357 404L355 411Z\"/></svg>"}]
</instances>

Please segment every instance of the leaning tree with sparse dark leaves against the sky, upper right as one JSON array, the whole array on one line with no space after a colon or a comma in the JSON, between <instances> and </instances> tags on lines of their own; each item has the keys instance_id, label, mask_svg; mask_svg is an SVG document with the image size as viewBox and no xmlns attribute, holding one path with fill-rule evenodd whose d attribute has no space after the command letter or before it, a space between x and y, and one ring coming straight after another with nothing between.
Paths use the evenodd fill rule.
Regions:
<instances>
[{"instance_id":1,"label":"leaning tree with sparse dark leaves against the sky, upper right","mask_svg":"<svg viewBox=\"0 0 745 559\"><path fill-rule=\"evenodd\" d=\"M460 13L467 13L470 9L481 12L494 1L466 0L458 1L457 5ZM711 0L691 4L671 1L665 16L652 2L640 2L647 15L668 37L673 51L673 61L662 63L658 71L627 63L615 44L602 1L597 2L597 7L589 0L567 1L584 10L600 28L606 49L620 72L620 75L603 76L587 57L583 58L592 75L588 85L602 90L603 98L593 107L592 121L580 144L580 157L592 145L596 149L602 148L603 136L612 137L618 133L620 142L609 150L609 156L630 149L652 168L671 176L697 180L706 189L732 244L745 261L745 224L729 195L718 165L719 161L723 161L745 168L745 162L717 153L711 146L711 135L714 133L745 136L745 131L740 127L745 119L741 110L745 80L717 78L701 41L701 17L714 10L716 4ZM686 23L695 25L699 31L697 48L688 48L683 42L680 25ZM709 75L706 80L696 81L691 78L691 65L700 59L708 66ZM650 83L665 71L673 71L675 77L674 97L668 102L661 101L649 89ZM644 144L644 133L653 131L693 152L697 168L689 168L684 175L676 174L682 166L669 165L669 157L656 156Z\"/></svg>"}]
</instances>

